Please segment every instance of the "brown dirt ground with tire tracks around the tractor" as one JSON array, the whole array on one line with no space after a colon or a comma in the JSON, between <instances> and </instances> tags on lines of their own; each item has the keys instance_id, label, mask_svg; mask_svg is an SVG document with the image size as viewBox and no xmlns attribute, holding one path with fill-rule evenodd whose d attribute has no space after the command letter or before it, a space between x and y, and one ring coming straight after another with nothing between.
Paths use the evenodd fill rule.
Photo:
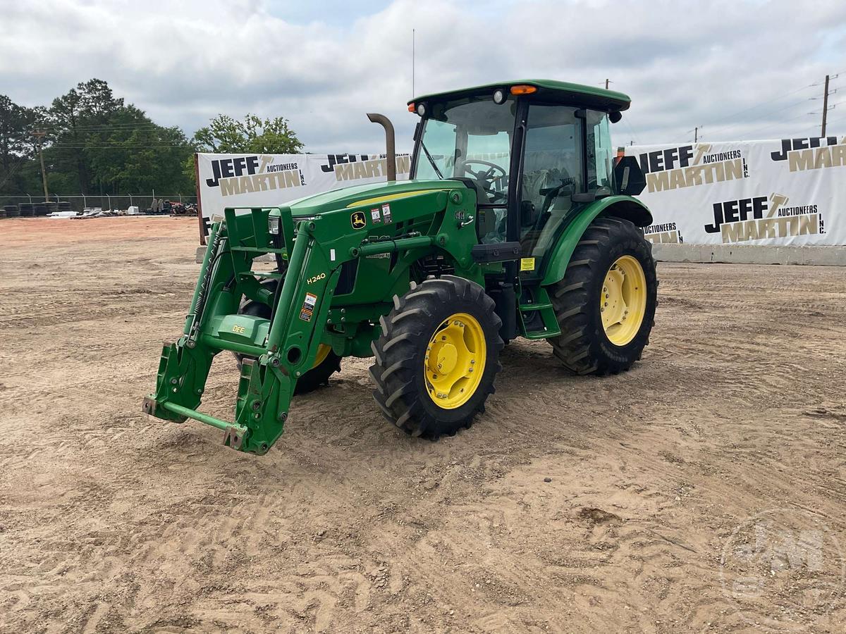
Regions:
<instances>
[{"instance_id":1,"label":"brown dirt ground with tire tracks around the tractor","mask_svg":"<svg viewBox=\"0 0 846 634\"><path fill-rule=\"evenodd\" d=\"M661 264L631 372L514 342L437 443L348 359L256 457L140 412L196 231L0 221L0 630L846 631L846 270Z\"/></svg>"}]
</instances>

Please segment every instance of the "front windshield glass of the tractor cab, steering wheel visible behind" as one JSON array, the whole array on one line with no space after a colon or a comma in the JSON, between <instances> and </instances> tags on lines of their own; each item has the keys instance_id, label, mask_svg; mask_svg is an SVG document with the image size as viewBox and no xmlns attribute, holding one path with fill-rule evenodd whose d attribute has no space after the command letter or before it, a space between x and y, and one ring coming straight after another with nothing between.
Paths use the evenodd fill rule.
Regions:
<instances>
[{"instance_id":1,"label":"front windshield glass of the tractor cab, steering wheel visible behind","mask_svg":"<svg viewBox=\"0 0 846 634\"><path fill-rule=\"evenodd\" d=\"M516 101L487 95L432 104L415 178L470 178L480 203L505 205L516 110Z\"/></svg>"}]
</instances>

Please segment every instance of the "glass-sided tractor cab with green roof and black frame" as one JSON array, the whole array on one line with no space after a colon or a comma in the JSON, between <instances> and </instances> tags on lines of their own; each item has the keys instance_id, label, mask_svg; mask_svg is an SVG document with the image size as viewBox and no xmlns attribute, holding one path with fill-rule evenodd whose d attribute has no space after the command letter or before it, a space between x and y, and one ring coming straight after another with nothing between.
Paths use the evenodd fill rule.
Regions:
<instances>
[{"instance_id":1,"label":"glass-sided tractor cab with green roof and black frame","mask_svg":"<svg viewBox=\"0 0 846 634\"><path fill-rule=\"evenodd\" d=\"M519 243L521 277L541 275L565 219L612 194L634 191L614 180L609 123L629 97L613 90L523 80L421 96L410 178L460 180L475 190L482 244ZM641 188L642 189L642 188Z\"/></svg>"}]
</instances>

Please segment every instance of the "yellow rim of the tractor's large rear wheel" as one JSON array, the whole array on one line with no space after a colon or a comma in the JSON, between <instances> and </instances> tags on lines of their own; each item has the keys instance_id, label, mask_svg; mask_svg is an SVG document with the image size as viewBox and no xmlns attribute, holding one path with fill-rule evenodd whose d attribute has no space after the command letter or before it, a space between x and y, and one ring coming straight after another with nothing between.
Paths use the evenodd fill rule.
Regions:
<instances>
[{"instance_id":1,"label":"yellow rim of the tractor's large rear wheel","mask_svg":"<svg viewBox=\"0 0 846 634\"><path fill-rule=\"evenodd\" d=\"M599 309L608 341L625 346L634 339L646 312L646 276L637 259L624 255L611 265L602 282Z\"/></svg>"}]
</instances>

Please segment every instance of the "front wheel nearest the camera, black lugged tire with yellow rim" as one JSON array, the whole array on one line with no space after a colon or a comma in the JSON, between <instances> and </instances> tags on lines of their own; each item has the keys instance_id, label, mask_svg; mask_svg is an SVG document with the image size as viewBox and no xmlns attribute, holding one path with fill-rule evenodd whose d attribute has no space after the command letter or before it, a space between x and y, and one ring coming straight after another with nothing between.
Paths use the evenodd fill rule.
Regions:
<instances>
[{"instance_id":1,"label":"front wheel nearest the camera, black lugged tire with yellow rim","mask_svg":"<svg viewBox=\"0 0 846 634\"><path fill-rule=\"evenodd\" d=\"M385 418L409 435L437 440L485 411L502 369L494 308L484 288L455 276L412 284L393 298L371 346L373 397Z\"/></svg>"}]
</instances>

